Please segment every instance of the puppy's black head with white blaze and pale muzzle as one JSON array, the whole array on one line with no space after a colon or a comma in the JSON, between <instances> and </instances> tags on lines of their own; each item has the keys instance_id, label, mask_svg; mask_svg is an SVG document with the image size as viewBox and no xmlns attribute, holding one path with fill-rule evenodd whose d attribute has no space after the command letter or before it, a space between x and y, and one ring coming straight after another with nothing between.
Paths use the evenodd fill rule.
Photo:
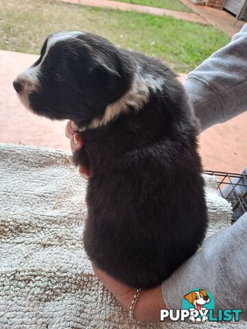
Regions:
<instances>
[{"instance_id":1,"label":"puppy's black head with white blaze and pale muzzle","mask_svg":"<svg viewBox=\"0 0 247 329\"><path fill-rule=\"evenodd\" d=\"M108 40L84 32L51 34L40 58L13 82L22 103L50 119L89 123L130 88L132 73Z\"/></svg>"}]
</instances>

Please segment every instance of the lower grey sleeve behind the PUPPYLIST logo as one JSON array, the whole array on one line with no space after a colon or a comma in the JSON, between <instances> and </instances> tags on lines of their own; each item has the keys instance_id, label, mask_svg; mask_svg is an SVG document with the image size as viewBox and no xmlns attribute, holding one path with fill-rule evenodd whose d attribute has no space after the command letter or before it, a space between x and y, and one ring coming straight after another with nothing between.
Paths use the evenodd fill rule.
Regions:
<instances>
[{"instance_id":1,"label":"lower grey sleeve behind the PUPPYLIST logo","mask_svg":"<svg viewBox=\"0 0 247 329\"><path fill-rule=\"evenodd\" d=\"M206 289L215 310L241 308L247 321L247 212L233 226L213 234L202 249L178 267L162 284L168 308L182 308L183 296Z\"/></svg>"}]
</instances>

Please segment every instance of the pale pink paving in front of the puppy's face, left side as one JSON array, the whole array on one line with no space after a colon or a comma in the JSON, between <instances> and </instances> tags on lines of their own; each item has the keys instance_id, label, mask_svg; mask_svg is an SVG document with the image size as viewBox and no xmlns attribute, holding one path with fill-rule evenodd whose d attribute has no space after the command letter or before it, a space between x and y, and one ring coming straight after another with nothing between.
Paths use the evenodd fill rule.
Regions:
<instances>
[{"instance_id":1,"label":"pale pink paving in front of the puppy's face, left side","mask_svg":"<svg viewBox=\"0 0 247 329\"><path fill-rule=\"evenodd\" d=\"M40 145L70 151L65 123L37 117L21 105L12 82L38 56L0 51L0 143Z\"/></svg>"}]
</instances>

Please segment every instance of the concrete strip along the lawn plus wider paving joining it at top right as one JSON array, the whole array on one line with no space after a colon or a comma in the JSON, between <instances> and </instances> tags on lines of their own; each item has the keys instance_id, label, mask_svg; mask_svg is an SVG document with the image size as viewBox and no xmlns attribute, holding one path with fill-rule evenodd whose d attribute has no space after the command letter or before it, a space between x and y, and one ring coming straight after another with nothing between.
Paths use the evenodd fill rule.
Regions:
<instances>
[{"instance_id":1,"label":"concrete strip along the lawn plus wider paving joining it at top right","mask_svg":"<svg viewBox=\"0 0 247 329\"><path fill-rule=\"evenodd\" d=\"M117 2L113 0L60 0L63 2L78 3L82 5L91 5L94 7L115 8L119 10L135 10L137 12L146 12L154 15L173 16L176 19L192 21L201 24L212 24L224 31L228 36L233 36L244 25L244 21L236 23L235 16L224 10L210 8L207 5L194 5L189 0L181 0L185 5L191 8L195 13L176 12L163 8L152 8L145 5L134 5L132 3Z\"/></svg>"}]
</instances>

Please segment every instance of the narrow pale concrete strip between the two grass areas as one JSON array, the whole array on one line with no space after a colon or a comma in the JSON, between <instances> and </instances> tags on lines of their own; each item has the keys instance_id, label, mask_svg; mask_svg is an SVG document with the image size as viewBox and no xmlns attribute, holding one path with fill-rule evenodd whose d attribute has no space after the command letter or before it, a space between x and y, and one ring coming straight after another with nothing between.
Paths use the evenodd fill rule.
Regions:
<instances>
[{"instance_id":1,"label":"narrow pale concrete strip between the two grass areas","mask_svg":"<svg viewBox=\"0 0 247 329\"><path fill-rule=\"evenodd\" d=\"M175 19L183 19L204 25L209 24L202 16L188 12L176 12L175 10L167 10L163 8L148 7L146 5L135 5L133 3L124 3L111 0L60 0L62 2L77 3L80 5L90 5L93 7L103 7L119 9L124 11L134 10L137 12L145 12L146 14L153 14L157 16L172 16Z\"/></svg>"}]
</instances>

